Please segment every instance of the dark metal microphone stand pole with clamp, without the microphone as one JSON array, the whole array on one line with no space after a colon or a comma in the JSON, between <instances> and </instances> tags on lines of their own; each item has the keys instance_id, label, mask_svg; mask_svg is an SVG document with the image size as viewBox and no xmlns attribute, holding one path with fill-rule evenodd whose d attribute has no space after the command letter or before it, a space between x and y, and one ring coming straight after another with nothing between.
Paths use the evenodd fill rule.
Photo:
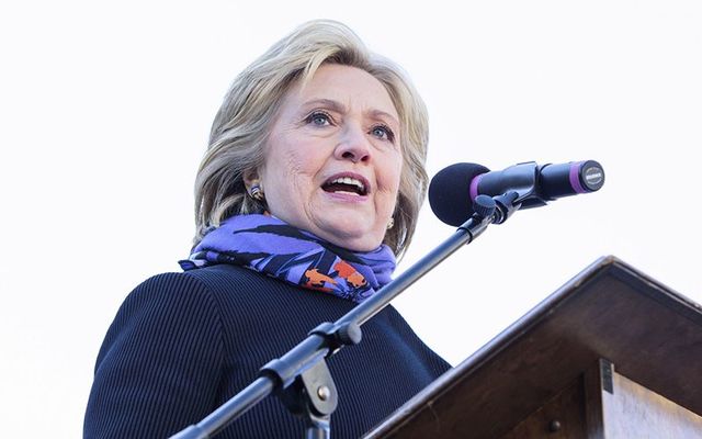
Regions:
<instances>
[{"instance_id":1,"label":"dark metal microphone stand pole with clamp, without the microphone","mask_svg":"<svg viewBox=\"0 0 702 439\"><path fill-rule=\"evenodd\" d=\"M361 325L458 248L473 241L488 225L505 222L519 209L519 205L513 205L517 198L516 192L495 198L478 195L474 201L476 213L453 236L337 322L322 323L313 329L305 340L283 357L261 368L259 378L246 389L199 424L186 427L170 439L211 438L273 392L282 397L293 414L304 417L305 438L330 438L331 413L337 407L338 394L325 359L344 346L358 345Z\"/></svg>"}]
</instances>

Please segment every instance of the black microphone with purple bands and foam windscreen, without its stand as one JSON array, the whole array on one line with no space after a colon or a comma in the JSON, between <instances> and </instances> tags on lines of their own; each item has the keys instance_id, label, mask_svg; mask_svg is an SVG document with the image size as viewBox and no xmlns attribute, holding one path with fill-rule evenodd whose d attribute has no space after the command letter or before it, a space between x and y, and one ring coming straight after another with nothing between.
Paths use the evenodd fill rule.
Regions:
<instances>
[{"instance_id":1,"label":"black microphone with purple bands and foam windscreen, without its stand","mask_svg":"<svg viewBox=\"0 0 702 439\"><path fill-rule=\"evenodd\" d=\"M476 164L455 164L431 179L429 204L439 219L457 227L475 213L473 201L478 195L517 192L514 204L529 209L562 196L595 192L602 184L604 169L595 160L558 165L529 161L501 171Z\"/></svg>"}]
</instances>

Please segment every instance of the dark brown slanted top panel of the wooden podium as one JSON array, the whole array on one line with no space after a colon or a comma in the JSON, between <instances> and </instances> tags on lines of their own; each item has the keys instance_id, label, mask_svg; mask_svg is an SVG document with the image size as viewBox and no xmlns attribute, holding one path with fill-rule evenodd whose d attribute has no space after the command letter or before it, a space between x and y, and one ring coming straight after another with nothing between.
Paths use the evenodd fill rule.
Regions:
<instances>
[{"instance_id":1,"label":"dark brown slanted top panel of the wooden podium","mask_svg":"<svg viewBox=\"0 0 702 439\"><path fill-rule=\"evenodd\" d=\"M609 256L366 437L500 437L599 358L630 380L702 414L702 307Z\"/></svg>"}]
</instances>

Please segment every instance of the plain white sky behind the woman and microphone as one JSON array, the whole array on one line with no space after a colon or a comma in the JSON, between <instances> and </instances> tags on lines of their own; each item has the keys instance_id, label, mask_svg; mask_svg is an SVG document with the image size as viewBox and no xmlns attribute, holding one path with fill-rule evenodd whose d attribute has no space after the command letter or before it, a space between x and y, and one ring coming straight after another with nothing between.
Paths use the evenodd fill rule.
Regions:
<instances>
[{"instance_id":1,"label":"plain white sky behind the woman and microphone","mask_svg":"<svg viewBox=\"0 0 702 439\"><path fill-rule=\"evenodd\" d=\"M702 302L697 1L13 3L0 7L3 437L80 437L117 307L188 255L230 81L314 18L409 71L430 176L458 161L605 169L601 191L490 227L396 301L451 363L603 255ZM426 205L399 270L452 233Z\"/></svg>"}]
</instances>

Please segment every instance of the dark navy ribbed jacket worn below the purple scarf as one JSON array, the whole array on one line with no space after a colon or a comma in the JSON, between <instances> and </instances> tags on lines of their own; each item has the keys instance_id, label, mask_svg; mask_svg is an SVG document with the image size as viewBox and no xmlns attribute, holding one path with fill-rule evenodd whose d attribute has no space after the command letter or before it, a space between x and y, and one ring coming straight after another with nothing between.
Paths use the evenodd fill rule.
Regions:
<instances>
[{"instance_id":1,"label":"dark navy ribbed jacket worn below the purple scarf","mask_svg":"<svg viewBox=\"0 0 702 439\"><path fill-rule=\"evenodd\" d=\"M355 304L228 264L154 277L125 300L105 336L84 438L168 438L237 394L322 322ZM332 438L358 438L446 371L390 306L360 345L328 361L339 391ZM301 438L268 397L216 438Z\"/></svg>"}]
</instances>

